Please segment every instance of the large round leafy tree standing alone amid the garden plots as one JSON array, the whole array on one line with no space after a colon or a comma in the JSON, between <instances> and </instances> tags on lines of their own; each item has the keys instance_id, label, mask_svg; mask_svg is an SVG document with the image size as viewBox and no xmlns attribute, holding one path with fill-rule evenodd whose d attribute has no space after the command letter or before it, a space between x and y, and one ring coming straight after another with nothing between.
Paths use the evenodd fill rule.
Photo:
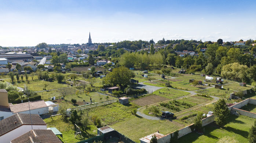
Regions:
<instances>
[{"instance_id":1,"label":"large round leafy tree standing alone amid the garden plots","mask_svg":"<svg viewBox=\"0 0 256 143\"><path fill-rule=\"evenodd\" d=\"M131 70L127 67L114 68L112 72L107 74L106 81L109 85L126 86L130 84L130 79L134 76Z\"/></svg>"}]
</instances>

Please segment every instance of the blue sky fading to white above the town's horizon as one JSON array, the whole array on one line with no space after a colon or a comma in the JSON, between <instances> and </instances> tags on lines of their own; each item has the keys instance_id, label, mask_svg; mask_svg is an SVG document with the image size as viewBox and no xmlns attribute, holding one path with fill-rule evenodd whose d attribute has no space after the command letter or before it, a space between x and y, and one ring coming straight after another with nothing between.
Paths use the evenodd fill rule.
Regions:
<instances>
[{"instance_id":1,"label":"blue sky fading to white above the town's horizon","mask_svg":"<svg viewBox=\"0 0 256 143\"><path fill-rule=\"evenodd\" d=\"M255 0L0 0L0 46L256 40Z\"/></svg>"}]
</instances>

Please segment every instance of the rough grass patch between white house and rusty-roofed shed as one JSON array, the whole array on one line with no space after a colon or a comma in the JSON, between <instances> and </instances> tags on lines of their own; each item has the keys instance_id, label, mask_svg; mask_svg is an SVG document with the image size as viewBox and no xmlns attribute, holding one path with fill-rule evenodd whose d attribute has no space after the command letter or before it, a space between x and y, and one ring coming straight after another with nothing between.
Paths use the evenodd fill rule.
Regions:
<instances>
[{"instance_id":1,"label":"rough grass patch between white house and rusty-roofed shed","mask_svg":"<svg viewBox=\"0 0 256 143\"><path fill-rule=\"evenodd\" d=\"M55 127L57 128L63 135L63 138L59 136L59 139L61 139L62 142L67 142L67 143L76 143L81 140L89 139L94 136L96 136L97 133L97 127L93 124L88 125L88 128L86 132L81 130L82 135L84 139L81 139L77 136L75 138L75 129L74 125L68 120L63 120L61 116L54 116L51 118L44 119L45 123L47 124L47 128Z\"/></svg>"}]
</instances>

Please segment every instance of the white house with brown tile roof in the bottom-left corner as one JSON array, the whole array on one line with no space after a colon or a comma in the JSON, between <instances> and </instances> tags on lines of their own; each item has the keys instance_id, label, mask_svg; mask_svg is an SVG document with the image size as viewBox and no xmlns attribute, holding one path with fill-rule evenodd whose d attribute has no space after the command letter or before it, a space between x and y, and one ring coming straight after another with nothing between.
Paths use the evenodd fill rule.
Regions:
<instances>
[{"instance_id":1,"label":"white house with brown tile roof in the bottom-left corner","mask_svg":"<svg viewBox=\"0 0 256 143\"><path fill-rule=\"evenodd\" d=\"M31 122L32 121L32 122ZM47 124L37 114L14 114L0 121L0 142L10 143L11 140L32 130L46 130Z\"/></svg>"}]
</instances>

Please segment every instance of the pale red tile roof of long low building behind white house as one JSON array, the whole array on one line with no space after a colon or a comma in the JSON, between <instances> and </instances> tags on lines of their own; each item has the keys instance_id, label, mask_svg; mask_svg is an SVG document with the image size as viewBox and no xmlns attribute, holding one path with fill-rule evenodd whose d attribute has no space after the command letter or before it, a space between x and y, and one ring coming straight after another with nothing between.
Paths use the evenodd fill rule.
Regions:
<instances>
[{"instance_id":1,"label":"pale red tile roof of long low building behind white house","mask_svg":"<svg viewBox=\"0 0 256 143\"><path fill-rule=\"evenodd\" d=\"M19 113L23 111L29 111L29 106L30 106L30 110L47 107L44 100L39 100L39 101L33 101L29 103L27 102L27 103L10 105L10 109L13 113Z\"/></svg>"}]
</instances>

